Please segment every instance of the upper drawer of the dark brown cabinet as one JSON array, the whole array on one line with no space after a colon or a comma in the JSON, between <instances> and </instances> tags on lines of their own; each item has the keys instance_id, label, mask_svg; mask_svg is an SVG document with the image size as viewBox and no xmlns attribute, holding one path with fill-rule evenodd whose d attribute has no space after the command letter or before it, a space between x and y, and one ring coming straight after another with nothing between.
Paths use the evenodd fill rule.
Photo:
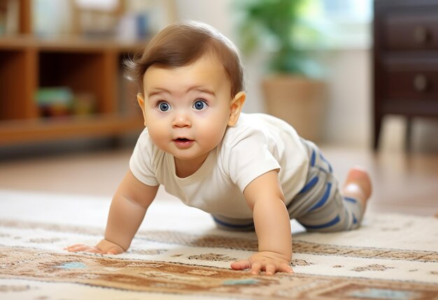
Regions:
<instances>
[{"instance_id":1,"label":"upper drawer of the dark brown cabinet","mask_svg":"<svg viewBox=\"0 0 438 300\"><path fill-rule=\"evenodd\" d=\"M382 22L387 50L438 49L438 6L389 10Z\"/></svg>"}]
</instances>

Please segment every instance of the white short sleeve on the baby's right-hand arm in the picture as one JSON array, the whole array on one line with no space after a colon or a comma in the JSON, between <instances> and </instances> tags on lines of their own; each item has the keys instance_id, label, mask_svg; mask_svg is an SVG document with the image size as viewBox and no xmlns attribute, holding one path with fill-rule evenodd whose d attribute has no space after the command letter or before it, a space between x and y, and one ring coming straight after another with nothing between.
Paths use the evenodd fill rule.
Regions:
<instances>
[{"instance_id":1,"label":"white short sleeve on the baby's right-hand arm in the picture","mask_svg":"<svg viewBox=\"0 0 438 300\"><path fill-rule=\"evenodd\" d=\"M261 131L246 130L229 151L229 176L242 193L260 175L281 169L269 149L267 137Z\"/></svg>"}]
</instances>

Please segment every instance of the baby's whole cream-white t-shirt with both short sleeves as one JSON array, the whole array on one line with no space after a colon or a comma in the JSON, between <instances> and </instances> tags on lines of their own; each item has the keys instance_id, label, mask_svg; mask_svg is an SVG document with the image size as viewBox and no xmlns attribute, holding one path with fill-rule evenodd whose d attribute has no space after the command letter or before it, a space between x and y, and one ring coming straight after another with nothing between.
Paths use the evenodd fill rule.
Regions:
<instances>
[{"instance_id":1,"label":"baby's whole cream-white t-shirt with both short sleeves","mask_svg":"<svg viewBox=\"0 0 438 300\"><path fill-rule=\"evenodd\" d=\"M188 206L228 218L253 218L243 190L271 170L278 170L288 204L304 186L308 166L306 149L292 126L267 114L243 113L190 177L176 176L174 156L153 144L147 128L129 161L139 181L162 184Z\"/></svg>"}]
</instances>

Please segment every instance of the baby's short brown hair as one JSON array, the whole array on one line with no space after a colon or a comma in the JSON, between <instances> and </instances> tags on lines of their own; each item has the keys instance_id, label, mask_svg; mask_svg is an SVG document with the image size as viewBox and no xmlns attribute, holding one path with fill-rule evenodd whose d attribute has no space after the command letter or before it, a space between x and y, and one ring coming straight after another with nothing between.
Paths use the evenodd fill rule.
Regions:
<instances>
[{"instance_id":1,"label":"baby's short brown hair","mask_svg":"<svg viewBox=\"0 0 438 300\"><path fill-rule=\"evenodd\" d=\"M143 75L150 66L178 68L197 61L206 54L216 57L229 82L231 96L243 91L243 68L239 50L217 29L202 22L171 24L157 33L146 46L143 54L125 61L128 77L143 92Z\"/></svg>"}]
</instances>

